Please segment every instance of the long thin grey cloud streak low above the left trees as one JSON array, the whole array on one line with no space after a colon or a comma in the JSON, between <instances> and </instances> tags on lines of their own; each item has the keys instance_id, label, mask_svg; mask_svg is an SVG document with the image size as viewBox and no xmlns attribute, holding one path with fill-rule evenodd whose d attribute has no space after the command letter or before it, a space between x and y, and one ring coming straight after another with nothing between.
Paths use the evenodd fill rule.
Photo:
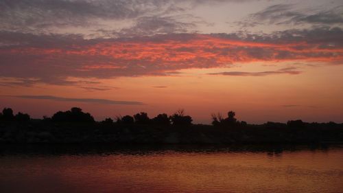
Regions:
<instances>
[{"instance_id":1,"label":"long thin grey cloud streak low above the left trees","mask_svg":"<svg viewBox=\"0 0 343 193\"><path fill-rule=\"evenodd\" d=\"M23 99L36 99L36 100L56 100L64 102L86 102L98 104L123 104L123 105L142 105L143 102L137 101L120 101L120 100L107 100L99 98L62 98L53 95L14 95L12 97Z\"/></svg>"}]
</instances>

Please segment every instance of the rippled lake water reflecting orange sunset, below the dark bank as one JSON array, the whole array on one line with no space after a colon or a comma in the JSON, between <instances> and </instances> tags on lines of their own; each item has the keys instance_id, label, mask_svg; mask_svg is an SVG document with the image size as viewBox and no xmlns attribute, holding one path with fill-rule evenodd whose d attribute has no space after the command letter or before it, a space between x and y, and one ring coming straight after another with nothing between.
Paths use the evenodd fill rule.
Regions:
<instances>
[{"instance_id":1,"label":"rippled lake water reflecting orange sunset, below the dark bank","mask_svg":"<svg viewBox=\"0 0 343 193\"><path fill-rule=\"evenodd\" d=\"M343 148L3 146L0 192L343 192Z\"/></svg>"}]
</instances>

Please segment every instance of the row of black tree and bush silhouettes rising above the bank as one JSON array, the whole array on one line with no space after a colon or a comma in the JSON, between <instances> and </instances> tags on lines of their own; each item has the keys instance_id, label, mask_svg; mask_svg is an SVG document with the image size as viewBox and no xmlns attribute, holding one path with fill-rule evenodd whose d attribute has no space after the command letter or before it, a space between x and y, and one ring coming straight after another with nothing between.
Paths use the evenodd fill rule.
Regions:
<instances>
[{"instance_id":1,"label":"row of black tree and bush silhouettes rising above the bank","mask_svg":"<svg viewBox=\"0 0 343 193\"><path fill-rule=\"evenodd\" d=\"M211 115L212 125L217 127L231 126L231 127L244 127L248 126L247 122L239 121L235 118L234 111L228 111L227 117L224 117L221 113L213 113ZM4 108L2 113L0 113L0 121L3 122L29 122L31 120L30 115L27 113L18 112L14 115L13 110L10 108ZM90 113L84 113L82 109L78 107L73 107L69 111L58 111L54 113L52 117L43 116L43 121L45 122L82 122L82 123L94 123L94 117ZM124 115L116 116L113 120L108 117L101 121L102 124L156 124L162 126L189 126L192 125L193 119L189 115L185 115L183 109L176 111L172 115L167 115L167 113L161 113L156 115L156 117L150 118L147 113L141 112L134 115ZM293 128L303 128L306 127L308 123L302 120L290 120L287 122L287 126ZM318 124L318 123L311 123ZM335 125L334 122L327 123L330 125ZM276 122L267 122L263 124L265 127L282 127L285 124Z\"/></svg>"}]
</instances>

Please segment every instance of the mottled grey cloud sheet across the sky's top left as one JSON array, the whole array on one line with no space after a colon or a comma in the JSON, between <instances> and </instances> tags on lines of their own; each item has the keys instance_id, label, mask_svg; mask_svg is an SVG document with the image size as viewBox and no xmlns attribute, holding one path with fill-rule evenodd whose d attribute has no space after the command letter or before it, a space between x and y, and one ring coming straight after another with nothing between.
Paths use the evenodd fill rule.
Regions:
<instances>
[{"instance_id":1,"label":"mottled grey cloud sheet across the sky's top left","mask_svg":"<svg viewBox=\"0 0 343 193\"><path fill-rule=\"evenodd\" d=\"M51 32L53 31L51 29L56 29L56 27L60 29L61 27L97 26L98 30L106 31L108 26L104 26L99 21L130 19L136 23L130 29L130 33L147 29L147 25L154 28L151 30L158 32L175 33L180 30L185 32L182 27L185 25L189 27L192 23L175 21L174 16L187 16L189 19L193 16L187 15L186 11L197 5L230 1L235 0L2 0L0 1L0 27L3 30L19 32ZM121 31L120 34L122 35L127 30Z\"/></svg>"}]
</instances>

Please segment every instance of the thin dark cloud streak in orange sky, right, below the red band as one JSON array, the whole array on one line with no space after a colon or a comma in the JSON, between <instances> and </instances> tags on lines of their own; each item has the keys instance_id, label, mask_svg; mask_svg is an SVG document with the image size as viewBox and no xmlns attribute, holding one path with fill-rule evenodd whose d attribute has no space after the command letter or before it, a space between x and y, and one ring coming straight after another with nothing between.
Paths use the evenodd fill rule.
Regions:
<instances>
[{"instance_id":1,"label":"thin dark cloud streak in orange sky, right, below the red band","mask_svg":"<svg viewBox=\"0 0 343 193\"><path fill-rule=\"evenodd\" d=\"M269 76L276 74L291 74L296 75L301 73L301 71L296 70L294 67L289 67L285 69L279 69L276 71L258 71L258 72L246 72L246 71L224 71L219 73L209 73L210 75L223 75L223 76Z\"/></svg>"}]
</instances>

